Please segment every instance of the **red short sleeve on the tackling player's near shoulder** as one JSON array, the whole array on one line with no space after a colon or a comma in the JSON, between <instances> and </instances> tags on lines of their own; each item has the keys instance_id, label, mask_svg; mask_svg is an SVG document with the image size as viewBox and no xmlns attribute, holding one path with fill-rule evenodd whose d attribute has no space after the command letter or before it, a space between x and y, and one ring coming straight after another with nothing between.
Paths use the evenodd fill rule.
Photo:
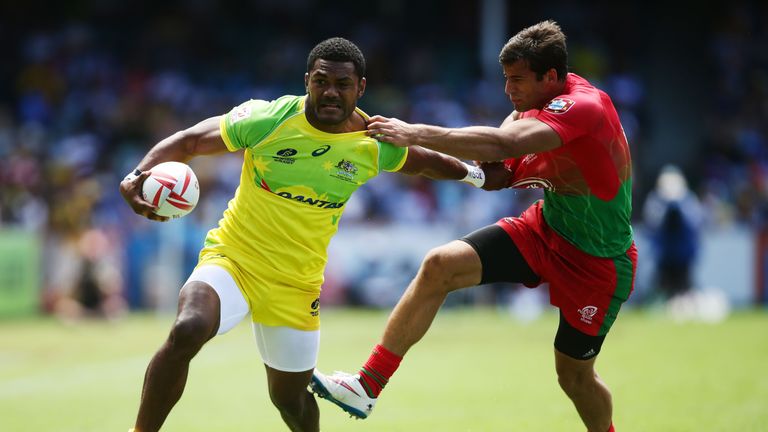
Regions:
<instances>
[{"instance_id":1,"label":"red short sleeve on the tackling player's near shoulder","mask_svg":"<svg viewBox=\"0 0 768 432\"><path fill-rule=\"evenodd\" d=\"M557 97L539 111L536 119L546 123L560 135L564 145L587 135L603 119L600 104L589 98Z\"/></svg>"}]
</instances>

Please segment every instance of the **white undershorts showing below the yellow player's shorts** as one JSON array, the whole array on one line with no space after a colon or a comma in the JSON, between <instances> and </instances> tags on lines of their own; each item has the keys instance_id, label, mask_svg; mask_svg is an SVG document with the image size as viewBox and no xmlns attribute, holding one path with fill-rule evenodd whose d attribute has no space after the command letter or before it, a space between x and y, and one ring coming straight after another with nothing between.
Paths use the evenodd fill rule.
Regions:
<instances>
[{"instance_id":1,"label":"white undershorts showing below the yellow player's shorts","mask_svg":"<svg viewBox=\"0 0 768 432\"><path fill-rule=\"evenodd\" d=\"M250 314L248 303L232 276L217 265L204 265L189 275L192 281L205 282L219 295L221 318L217 335L234 328ZM182 287L182 290L184 288ZM290 327L270 327L253 323L253 335L264 364L284 372L304 372L317 365L320 330L297 330Z\"/></svg>"}]
</instances>

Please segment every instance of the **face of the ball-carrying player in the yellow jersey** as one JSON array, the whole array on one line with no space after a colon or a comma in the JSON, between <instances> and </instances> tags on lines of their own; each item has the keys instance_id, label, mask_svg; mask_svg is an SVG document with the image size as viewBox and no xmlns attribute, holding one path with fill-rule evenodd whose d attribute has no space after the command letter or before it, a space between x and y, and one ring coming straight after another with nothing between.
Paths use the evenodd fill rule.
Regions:
<instances>
[{"instance_id":1,"label":"face of the ball-carrying player in the yellow jersey","mask_svg":"<svg viewBox=\"0 0 768 432\"><path fill-rule=\"evenodd\" d=\"M307 87L307 117L323 126L343 124L355 112L365 91L365 78L355 73L352 62L318 59L304 75Z\"/></svg>"}]
</instances>

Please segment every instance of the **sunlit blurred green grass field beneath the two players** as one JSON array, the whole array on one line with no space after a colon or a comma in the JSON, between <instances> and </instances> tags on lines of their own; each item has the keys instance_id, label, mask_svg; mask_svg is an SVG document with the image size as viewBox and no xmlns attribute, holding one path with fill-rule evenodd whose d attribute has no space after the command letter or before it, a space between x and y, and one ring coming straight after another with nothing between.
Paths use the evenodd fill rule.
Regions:
<instances>
[{"instance_id":1,"label":"sunlit blurred green grass field beneath the two players","mask_svg":"<svg viewBox=\"0 0 768 432\"><path fill-rule=\"evenodd\" d=\"M386 312L326 310L321 370L357 370L385 320ZM144 369L171 321L0 321L0 430L127 431ZM556 324L554 312L523 324L495 310L443 311L370 419L320 401L322 430L583 431L555 378ZM598 360L617 429L768 431L767 330L766 313L712 325L623 312ZM164 430L287 430L248 325L198 355Z\"/></svg>"}]
</instances>

